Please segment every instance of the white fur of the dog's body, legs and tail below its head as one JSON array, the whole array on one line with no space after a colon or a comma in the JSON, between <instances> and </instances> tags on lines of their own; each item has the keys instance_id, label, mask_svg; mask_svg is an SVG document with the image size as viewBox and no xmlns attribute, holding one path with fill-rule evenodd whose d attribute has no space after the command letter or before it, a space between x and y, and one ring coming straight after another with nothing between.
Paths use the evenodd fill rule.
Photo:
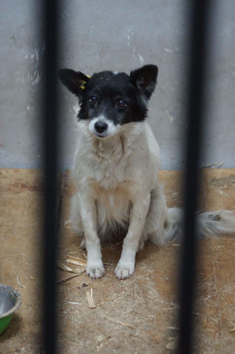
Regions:
<instances>
[{"instance_id":1,"label":"white fur of the dog's body, legs and tail below its head","mask_svg":"<svg viewBox=\"0 0 235 354\"><path fill-rule=\"evenodd\" d=\"M91 121L92 122L92 121ZM183 210L167 209L163 188L157 180L160 150L146 121L116 127L112 137L91 134L89 121L78 122L79 137L72 169L77 192L72 198L71 219L81 247L88 252L87 274L105 274L101 241L127 233L115 268L118 279L134 272L135 253L149 238L158 245L181 239ZM198 236L234 233L231 212L203 213L198 217Z\"/></svg>"}]
</instances>

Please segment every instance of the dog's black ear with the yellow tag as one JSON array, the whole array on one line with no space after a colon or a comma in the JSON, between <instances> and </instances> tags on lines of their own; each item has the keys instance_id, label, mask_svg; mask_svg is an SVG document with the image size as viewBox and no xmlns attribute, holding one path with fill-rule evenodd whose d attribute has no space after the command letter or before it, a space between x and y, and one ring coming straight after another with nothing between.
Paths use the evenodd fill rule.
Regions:
<instances>
[{"instance_id":1,"label":"dog's black ear with the yellow tag","mask_svg":"<svg viewBox=\"0 0 235 354\"><path fill-rule=\"evenodd\" d=\"M58 75L62 83L77 97L84 92L85 84L90 80L90 76L72 69L60 69Z\"/></svg>"}]
</instances>

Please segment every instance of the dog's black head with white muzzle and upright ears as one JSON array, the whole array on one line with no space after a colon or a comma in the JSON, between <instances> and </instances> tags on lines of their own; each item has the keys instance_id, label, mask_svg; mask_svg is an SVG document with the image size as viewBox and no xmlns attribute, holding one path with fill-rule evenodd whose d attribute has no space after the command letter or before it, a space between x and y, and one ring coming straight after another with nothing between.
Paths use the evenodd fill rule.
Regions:
<instances>
[{"instance_id":1,"label":"dog's black head with white muzzle and upright ears","mask_svg":"<svg viewBox=\"0 0 235 354\"><path fill-rule=\"evenodd\" d=\"M78 120L88 121L91 134L108 138L122 125L145 119L157 73L156 65L144 65L130 75L103 71L91 77L72 69L61 69L59 78L78 97Z\"/></svg>"}]
</instances>

